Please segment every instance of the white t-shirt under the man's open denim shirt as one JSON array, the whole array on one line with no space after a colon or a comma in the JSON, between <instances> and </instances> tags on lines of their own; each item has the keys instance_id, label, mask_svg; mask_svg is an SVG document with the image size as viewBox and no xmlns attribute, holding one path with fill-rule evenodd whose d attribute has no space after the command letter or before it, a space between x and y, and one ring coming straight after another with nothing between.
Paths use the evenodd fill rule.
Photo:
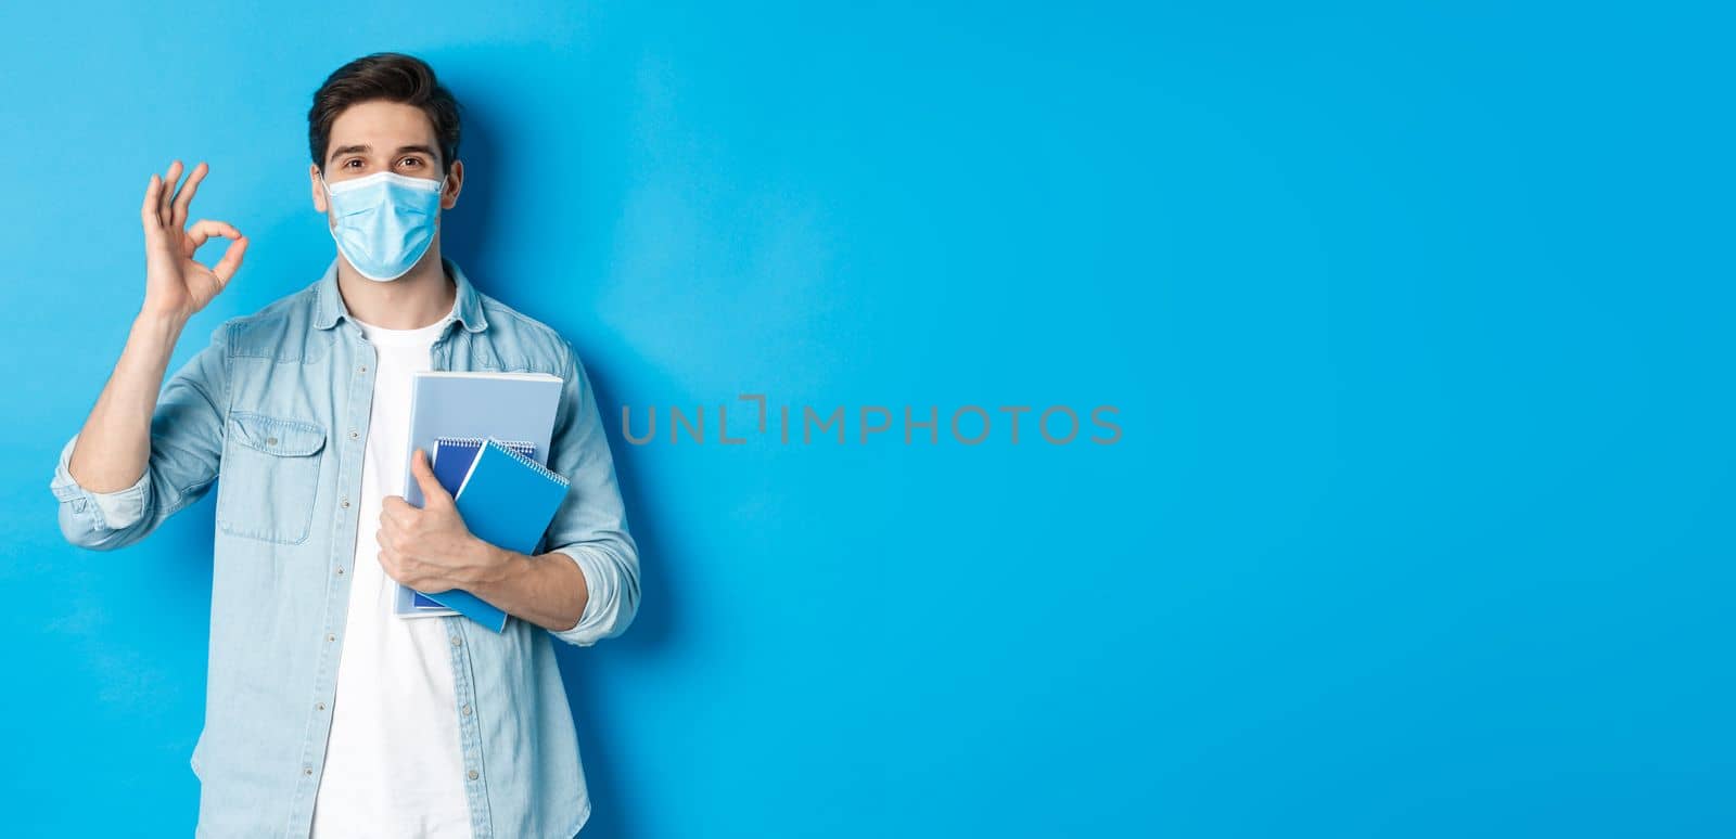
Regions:
<instances>
[{"instance_id":1,"label":"white t-shirt under the man's open denim shirt","mask_svg":"<svg viewBox=\"0 0 1736 839\"><path fill-rule=\"evenodd\" d=\"M429 350L453 317L420 329L356 321L378 357L314 839L470 837L444 621L392 614L398 582L375 539L382 499L404 492L410 374L432 367Z\"/></svg>"}]
</instances>

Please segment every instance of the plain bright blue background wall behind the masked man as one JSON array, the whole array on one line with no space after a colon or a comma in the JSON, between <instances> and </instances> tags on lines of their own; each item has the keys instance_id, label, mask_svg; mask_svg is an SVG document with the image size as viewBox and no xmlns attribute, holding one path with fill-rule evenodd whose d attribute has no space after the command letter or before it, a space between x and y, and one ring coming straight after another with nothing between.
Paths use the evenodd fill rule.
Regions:
<instances>
[{"instance_id":1,"label":"plain bright blue background wall behind the masked man","mask_svg":"<svg viewBox=\"0 0 1736 839\"><path fill-rule=\"evenodd\" d=\"M611 421L644 607L561 650L585 836L1731 836L1710 3L142 5L0 17L9 834L194 822L210 499L102 555L47 487L146 179L210 161L253 241L179 367L332 258L309 97L398 49L469 109L448 255L606 414L1120 407Z\"/></svg>"}]
</instances>

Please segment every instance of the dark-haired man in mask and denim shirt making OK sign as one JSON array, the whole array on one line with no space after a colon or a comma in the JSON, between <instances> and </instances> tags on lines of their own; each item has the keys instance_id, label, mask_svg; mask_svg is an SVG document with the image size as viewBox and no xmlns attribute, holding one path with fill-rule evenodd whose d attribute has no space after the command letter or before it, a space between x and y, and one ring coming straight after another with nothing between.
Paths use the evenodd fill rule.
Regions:
<instances>
[{"instance_id":1,"label":"dark-haired man in mask and denim shirt making OK sign","mask_svg":"<svg viewBox=\"0 0 1736 839\"><path fill-rule=\"evenodd\" d=\"M307 114L312 205L337 243L312 284L231 317L158 392L187 319L241 267L187 225L205 179L153 175L144 305L52 489L73 544L123 548L217 482L198 836L571 837L590 815L550 634L592 645L639 603L639 555L585 367L559 333L441 257L464 187L458 104L415 57L339 68ZM229 239L214 267L193 260ZM417 369L564 380L547 463L571 478L545 553L479 541L413 456ZM396 582L514 619L394 617Z\"/></svg>"}]
</instances>

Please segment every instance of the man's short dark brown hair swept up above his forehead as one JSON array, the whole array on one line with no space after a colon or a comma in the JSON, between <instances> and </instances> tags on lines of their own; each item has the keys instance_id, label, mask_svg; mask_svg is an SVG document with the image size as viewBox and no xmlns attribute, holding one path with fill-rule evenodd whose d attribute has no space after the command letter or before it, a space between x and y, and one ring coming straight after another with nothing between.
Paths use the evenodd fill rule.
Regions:
<instances>
[{"instance_id":1,"label":"man's short dark brown hair swept up above his forehead","mask_svg":"<svg viewBox=\"0 0 1736 839\"><path fill-rule=\"evenodd\" d=\"M351 61L314 90L314 106L307 109L307 151L319 172L325 172L337 116L352 104L375 99L417 106L429 114L439 142L441 170L451 172L451 161L458 159L458 101L434 78L434 68L401 52L375 52Z\"/></svg>"}]
</instances>

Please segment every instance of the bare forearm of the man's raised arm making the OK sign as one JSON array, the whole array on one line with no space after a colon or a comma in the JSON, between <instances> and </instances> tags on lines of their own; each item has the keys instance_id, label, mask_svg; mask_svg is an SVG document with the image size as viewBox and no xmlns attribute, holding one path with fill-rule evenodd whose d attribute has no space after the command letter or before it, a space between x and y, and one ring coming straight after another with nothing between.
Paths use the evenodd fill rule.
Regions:
<instances>
[{"instance_id":1,"label":"bare forearm of the man's raised arm making the OK sign","mask_svg":"<svg viewBox=\"0 0 1736 839\"><path fill-rule=\"evenodd\" d=\"M144 473L151 458L151 414L186 317L141 312L115 373L85 418L68 472L92 492L116 492Z\"/></svg>"}]
</instances>

